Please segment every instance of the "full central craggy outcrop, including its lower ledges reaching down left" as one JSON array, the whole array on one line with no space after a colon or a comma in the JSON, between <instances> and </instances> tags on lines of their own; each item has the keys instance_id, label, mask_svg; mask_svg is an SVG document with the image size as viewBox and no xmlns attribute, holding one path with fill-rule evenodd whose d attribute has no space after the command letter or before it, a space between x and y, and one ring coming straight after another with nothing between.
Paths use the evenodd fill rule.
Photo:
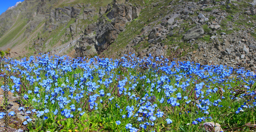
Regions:
<instances>
[{"instance_id":1,"label":"full central craggy outcrop, including its lower ledges reaching down left","mask_svg":"<svg viewBox=\"0 0 256 132\"><path fill-rule=\"evenodd\" d=\"M116 2L101 7L98 22L89 24L84 31L84 35L77 42L76 56L100 54L116 40L125 29L127 22L139 16L141 8L130 3L118 4Z\"/></svg>"}]
</instances>

